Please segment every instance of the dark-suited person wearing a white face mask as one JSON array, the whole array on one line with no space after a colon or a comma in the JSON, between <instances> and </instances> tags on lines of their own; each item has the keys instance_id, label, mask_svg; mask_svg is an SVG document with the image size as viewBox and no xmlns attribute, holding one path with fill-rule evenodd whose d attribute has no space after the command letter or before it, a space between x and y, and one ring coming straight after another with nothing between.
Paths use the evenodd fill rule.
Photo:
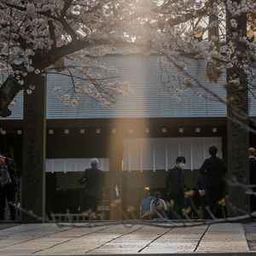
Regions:
<instances>
[{"instance_id":1,"label":"dark-suited person wearing a white face mask","mask_svg":"<svg viewBox=\"0 0 256 256\"><path fill-rule=\"evenodd\" d=\"M174 212L182 217L182 210L184 207L184 175L183 167L186 160L183 156L178 156L176 159L176 166L168 171L166 177L166 191L170 203L173 206ZM173 214L172 214L173 215ZM175 218L175 216L172 216Z\"/></svg>"}]
</instances>

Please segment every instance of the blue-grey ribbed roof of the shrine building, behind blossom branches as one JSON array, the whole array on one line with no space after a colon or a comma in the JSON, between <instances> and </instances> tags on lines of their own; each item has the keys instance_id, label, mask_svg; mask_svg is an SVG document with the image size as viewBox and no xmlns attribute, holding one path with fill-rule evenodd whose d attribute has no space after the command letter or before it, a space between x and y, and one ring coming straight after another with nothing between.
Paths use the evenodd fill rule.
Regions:
<instances>
[{"instance_id":1,"label":"blue-grey ribbed roof of the shrine building, behind blossom branches","mask_svg":"<svg viewBox=\"0 0 256 256\"><path fill-rule=\"evenodd\" d=\"M172 118L172 117L224 117L226 106L212 96L193 86L183 93L177 102L161 83L161 69L157 55L106 55L102 63L119 69L119 80L129 82L134 93L131 96L119 96L117 105L112 108L102 107L89 96L81 96L78 108L66 106L53 94L56 85L68 87L71 79L59 74L49 74L47 78L47 119L95 119L95 118ZM210 83L205 77L204 61L187 60L187 72L216 95L225 98L222 84L225 73L218 84ZM169 75L177 73L175 68L168 69ZM115 76L117 73L114 74ZM166 78L166 74L164 74ZM167 79L167 78L166 78ZM202 96L196 95L200 91ZM22 93L18 96L17 105L12 108L13 114L8 119L22 119ZM256 115L256 103L250 96L250 114ZM255 99L254 99L255 102Z\"/></svg>"}]
</instances>

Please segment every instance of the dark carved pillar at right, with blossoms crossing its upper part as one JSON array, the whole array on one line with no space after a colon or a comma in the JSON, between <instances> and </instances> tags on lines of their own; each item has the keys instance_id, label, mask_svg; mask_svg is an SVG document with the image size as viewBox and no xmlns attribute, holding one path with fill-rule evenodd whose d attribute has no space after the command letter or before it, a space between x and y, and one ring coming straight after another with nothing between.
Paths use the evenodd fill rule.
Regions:
<instances>
[{"instance_id":1,"label":"dark carved pillar at right, with blossoms crossing its upper part","mask_svg":"<svg viewBox=\"0 0 256 256\"><path fill-rule=\"evenodd\" d=\"M233 3L241 3L241 0L233 0ZM236 20L237 26L232 26ZM238 183L247 184L248 172L248 95L247 75L241 63L246 64L247 44L240 38L247 36L247 15L232 15L227 11L227 44L233 44L236 48L237 64L227 70L227 140L228 140L228 170L230 178L235 178ZM230 82L230 81L238 81ZM249 196L241 186L229 187L229 201L231 204L230 215L244 214L249 210ZM233 207L232 207L233 206ZM244 212L241 212L244 211Z\"/></svg>"}]
</instances>

